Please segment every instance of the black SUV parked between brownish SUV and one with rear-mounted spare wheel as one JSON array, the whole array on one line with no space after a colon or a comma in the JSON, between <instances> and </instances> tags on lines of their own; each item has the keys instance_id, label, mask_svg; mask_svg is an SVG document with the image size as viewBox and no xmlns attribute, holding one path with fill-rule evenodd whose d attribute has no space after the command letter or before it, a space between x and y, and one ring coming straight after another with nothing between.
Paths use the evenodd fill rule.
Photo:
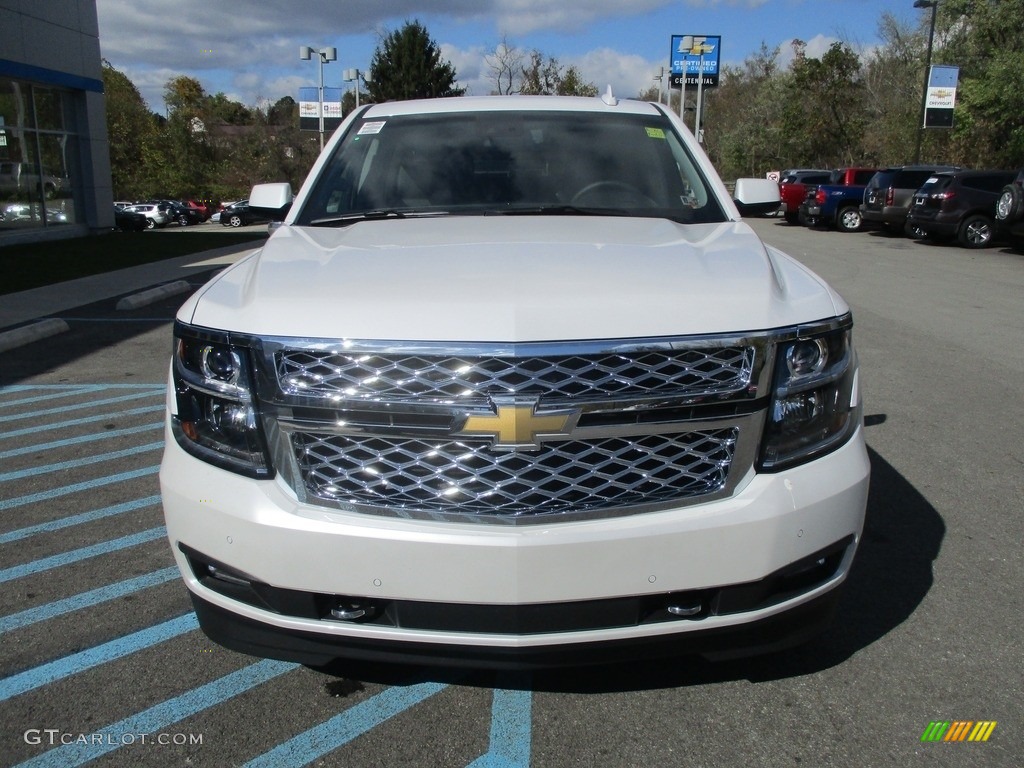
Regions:
<instances>
[{"instance_id":1,"label":"black SUV parked between brownish SUV and one with rear-mounted spare wheel","mask_svg":"<svg viewBox=\"0 0 1024 768\"><path fill-rule=\"evenodd\" d=\"M1013 171L935 173L913 195L908 229L926 238L956 238L965 248L984 248L995 234L995 202Z\"/></svg>"}]
</instances>

